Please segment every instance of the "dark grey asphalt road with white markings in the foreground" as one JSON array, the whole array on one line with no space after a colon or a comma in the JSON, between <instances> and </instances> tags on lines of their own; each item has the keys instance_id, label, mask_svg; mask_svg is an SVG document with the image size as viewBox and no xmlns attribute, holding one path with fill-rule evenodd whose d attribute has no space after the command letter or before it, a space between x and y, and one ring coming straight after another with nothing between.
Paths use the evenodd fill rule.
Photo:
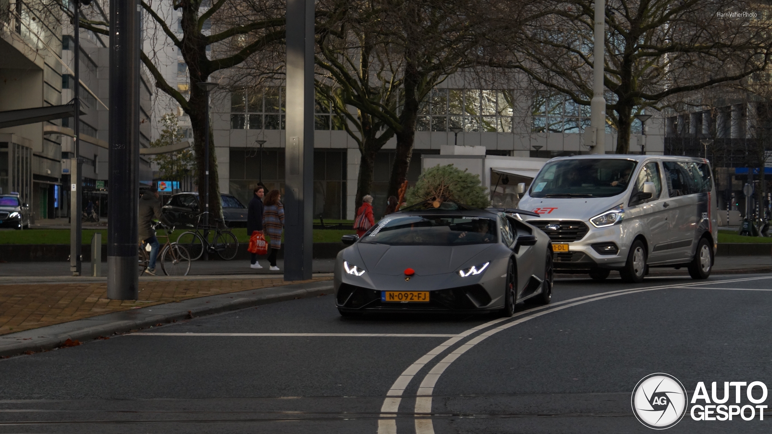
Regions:
<instances>
[{"instance_id":1,"label":"dark grey asphalt road with white markings in the foreground","mask_svg":"<svg viewBox=\"0 0 772 434\"><path fill-rule=\"evenodd\" d=\"M712 381L772 385L770 274L560 280L550 307L505 320L352 320L333 301L0 361L0 432L652 432L631 412L645 375L675 376L690 398L698 381L708 394ZM687 414L667 432L769 432L767 418Z\"/></svg>"}]
</instances>

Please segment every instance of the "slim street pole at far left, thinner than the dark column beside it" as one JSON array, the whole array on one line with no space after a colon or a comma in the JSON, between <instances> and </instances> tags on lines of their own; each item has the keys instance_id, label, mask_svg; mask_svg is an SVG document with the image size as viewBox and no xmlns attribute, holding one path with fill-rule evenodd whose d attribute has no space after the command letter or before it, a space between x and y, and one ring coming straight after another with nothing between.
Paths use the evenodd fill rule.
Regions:
<instances>
[{"instance_id":1,"label":"slim street pole at far left, thinner than the dark column beside it","mask_svg":"<svg viewBox=\"0 0 772 434\"><path fill-rule=\"evenodd\" d=\"M70 160L69 192L69 271L73 276L80 276L81 232L80 213L83 211L83 163L80 160L80 0L73 2L73 159Z\"/></svg>"}]
</instances>

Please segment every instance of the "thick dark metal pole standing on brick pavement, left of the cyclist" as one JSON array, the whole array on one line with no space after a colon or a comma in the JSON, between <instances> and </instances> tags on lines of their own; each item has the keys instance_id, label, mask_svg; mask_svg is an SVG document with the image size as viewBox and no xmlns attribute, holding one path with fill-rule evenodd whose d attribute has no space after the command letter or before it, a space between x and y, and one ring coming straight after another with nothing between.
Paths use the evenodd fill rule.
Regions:
<instances>
[{"instance_id":1,"label":"thick dark metal pole standing on brick pavement, left of the cyclist","mask_svg":"<svg viewBox=\"0 0 772 434\"><path fill-rule=\"evenodd\" d=\"M137 0L110 2L110 200L107 297L137 300L140 158L140 13Z\"/></svg>"}]
</instances>

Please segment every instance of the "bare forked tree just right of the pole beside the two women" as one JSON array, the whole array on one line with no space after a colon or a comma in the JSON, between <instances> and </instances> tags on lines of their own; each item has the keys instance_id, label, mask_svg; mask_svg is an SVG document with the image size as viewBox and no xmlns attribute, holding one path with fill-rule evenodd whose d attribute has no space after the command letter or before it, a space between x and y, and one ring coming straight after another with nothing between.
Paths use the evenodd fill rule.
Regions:
<instances>
[{"instance_id":1,"label":"bare forked tree just right of the pole beside the two women","mask_svg":"<svg viewBox=\"0 0 772 434\"><path fill-rule=\"evenodd\" d=\"M359 147L357 209L371 193L375 155L394 137L389 124L398 122L401 68L380 27L382 13L367 1L337 0L317 9L317 104L333 108L338 127Z\"/></svg>"}]
</instances>

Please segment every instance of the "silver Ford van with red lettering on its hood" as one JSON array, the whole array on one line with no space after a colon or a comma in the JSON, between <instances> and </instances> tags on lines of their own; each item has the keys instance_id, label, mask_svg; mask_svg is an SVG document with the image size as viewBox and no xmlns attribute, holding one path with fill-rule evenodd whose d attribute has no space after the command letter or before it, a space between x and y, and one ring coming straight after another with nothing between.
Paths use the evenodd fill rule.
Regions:
<instances>
[{"instance_id":1,"label":"silver Ford van with red lettering on its hood","mask_svg":"<svg viewBox=\"0 0 772 434\"><path fill-rule=\"evenodd\" d=\"M641 282L650 266L706 279L718 240L716 186L703 158L580 155L544 164L520 199L522 216L552 240L555 270L593 279L619 270Z\"/></svg>"}]
</instances>

